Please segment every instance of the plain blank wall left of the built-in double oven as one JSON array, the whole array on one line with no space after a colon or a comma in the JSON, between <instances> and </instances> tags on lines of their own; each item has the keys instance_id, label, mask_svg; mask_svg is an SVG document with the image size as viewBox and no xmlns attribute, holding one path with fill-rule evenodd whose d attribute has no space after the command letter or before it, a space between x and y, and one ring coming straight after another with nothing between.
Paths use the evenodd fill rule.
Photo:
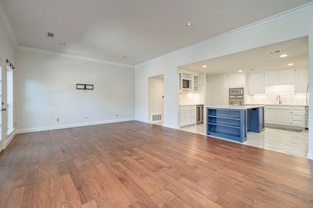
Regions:
<instances>
[{"instance_id":1,"label":"plain blank wall left of the built-in double oven","mask_svg":"<svg viewBox=\"0 0 313 208\"><path fill-rule=\"evenodd\" d=\"M206 77L207 105L228 104L227 101L227 75L213 75Z\"/></svg>"}]
</instances>

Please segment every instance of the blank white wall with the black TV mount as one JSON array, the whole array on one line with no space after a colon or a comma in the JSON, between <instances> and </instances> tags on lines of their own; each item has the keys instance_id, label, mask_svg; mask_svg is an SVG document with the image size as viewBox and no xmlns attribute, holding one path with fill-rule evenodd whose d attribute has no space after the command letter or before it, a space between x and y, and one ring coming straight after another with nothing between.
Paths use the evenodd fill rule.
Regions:
<instances>
[{"instance_id":1,"label":"blank white wall with the black TV mount","mask_svg":"<svg viewBox=\"0 0 313 208\"><path fill-rule=\"evenodd\" d=\"M134 120L134 68L23 50L16 60L19 133Z\"/></svg>"}]
</instances>

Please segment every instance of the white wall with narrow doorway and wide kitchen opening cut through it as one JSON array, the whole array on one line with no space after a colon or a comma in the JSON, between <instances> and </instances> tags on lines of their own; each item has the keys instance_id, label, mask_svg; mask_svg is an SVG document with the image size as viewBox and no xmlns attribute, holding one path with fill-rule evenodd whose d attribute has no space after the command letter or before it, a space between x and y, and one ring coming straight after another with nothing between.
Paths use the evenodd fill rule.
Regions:
<instances>
[{"instance_id":1,"label":"white wall with narrow doorway and wide kitchen opening cut through it","mask_svg":"<svg viewBox=\"0 0 313 208\"><path fill-rule=\"evenodd\" d=\"M311 5L312 6L312 5ZM309 36L309 73L313 80L313 10L294 13L291 16L275 17L274 21L258 22L237 31L215 38L184 50L159 57L135 66L136 120L147 121L148 77L164 74L164 126L178 128L177 66L200 62L256 47ZM313 84L310 85L313 92ZM313 96L310 97L310 100ZM312 102L310 102L312 103ZM313 111L310 111L313 118ZM313 122L309 124L313 129ZM313 131L309 132L308 157L313 159Z\"/></svg>"}]
</instances>

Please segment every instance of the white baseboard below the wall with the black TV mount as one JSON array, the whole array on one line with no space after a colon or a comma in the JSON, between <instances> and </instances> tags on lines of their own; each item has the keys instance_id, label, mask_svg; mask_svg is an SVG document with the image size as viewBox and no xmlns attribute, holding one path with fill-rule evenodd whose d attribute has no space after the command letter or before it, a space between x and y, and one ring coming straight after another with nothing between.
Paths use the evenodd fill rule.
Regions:
<instances>
[{"instance_id":1,"label":"white baseboard below the wall with the black TV mount","mask_svg":"<svg viewBox=\"0 0 313 208\"><path fill-rule=\"evenodd\" d=\"M63 129L63 128L74 128L74 127L81 127L81 126L88 126L88 125L111 124L111 123L134 121L134 120L135 120L134 118L128 118L128 119L116 119L116 120L89 122L89 123L53 125L53 126L43 126L43 127L37 127L37 128L24 128L24 129L16 130L16 134L37 132L37 131L47 131L47 130L54 130L54 129Z\"/></svg>"}]
</instances>

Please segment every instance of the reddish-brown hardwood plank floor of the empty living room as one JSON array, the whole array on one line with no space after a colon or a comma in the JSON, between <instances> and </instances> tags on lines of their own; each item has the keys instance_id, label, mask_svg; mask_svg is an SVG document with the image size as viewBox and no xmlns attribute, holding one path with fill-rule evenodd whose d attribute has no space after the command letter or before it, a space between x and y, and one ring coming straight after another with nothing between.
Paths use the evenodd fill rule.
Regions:
<instances>
[{"instance_id":1,"label":"reddish-brown hardwood plank floor of the empty living room","mask_svg":"<svg viewBox=\"0 0 313 208\"><path fill-rule=\"evenodd\" d=\"M18 134L0 208L313 207L313 161L141 122Z\"/></svg>"}]
</instances>

